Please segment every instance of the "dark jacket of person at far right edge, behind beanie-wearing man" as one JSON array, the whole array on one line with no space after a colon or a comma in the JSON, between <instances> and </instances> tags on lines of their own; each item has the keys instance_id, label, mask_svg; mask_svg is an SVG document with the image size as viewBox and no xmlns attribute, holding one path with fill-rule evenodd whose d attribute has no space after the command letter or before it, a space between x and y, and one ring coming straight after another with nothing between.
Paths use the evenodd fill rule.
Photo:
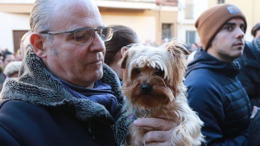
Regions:
<instances>
[{"instance_id":1,"label":"dark jacket of person at far right edge, behind beanie-wearing man","mask_svg":"<svg viewBox=\"0 0 260 146\"><path fill-rule=\"evenodd\" d=\"M252 42L246 42L243 56L236 59L241 66L238 79L246 89L251 106L260 106L260 62L251 52ZM260 47L260 46L259 46ZM254 48L252 48L254 49ZM260 58L260 56L259 56Z\"/></svg>"}]
</instances>

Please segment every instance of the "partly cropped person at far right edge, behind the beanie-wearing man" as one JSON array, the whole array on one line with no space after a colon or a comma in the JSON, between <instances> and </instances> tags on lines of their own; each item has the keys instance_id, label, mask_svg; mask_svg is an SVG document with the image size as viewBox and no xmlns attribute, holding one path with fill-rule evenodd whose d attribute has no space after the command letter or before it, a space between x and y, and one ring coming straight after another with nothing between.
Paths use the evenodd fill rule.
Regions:
<instances>
[{"instance_id":1,"label":"partly cropped person at far right edge, behind the beanie-wearing man","mask_svg":"<svg viewBox=\"0 0 260 146\"><path fill-rule=\"evenodd\" d=\"M252 29L254 39L246 42L243 56L236 59L240 65L238 79L249 96L251 106L260 106L260 23ZM258 36L259 34L259 36Z\"/></svg>"}]
</instances>

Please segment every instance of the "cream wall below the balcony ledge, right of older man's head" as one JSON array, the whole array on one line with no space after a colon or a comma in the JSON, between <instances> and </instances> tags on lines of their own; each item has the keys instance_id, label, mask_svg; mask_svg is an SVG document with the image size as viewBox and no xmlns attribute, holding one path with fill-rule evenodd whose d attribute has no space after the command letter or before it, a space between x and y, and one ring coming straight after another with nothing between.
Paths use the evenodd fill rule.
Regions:
<instances>
[{"instance_id":1,"label":"cream wall below the balcony ledge, right of older man's head","mask_svg":"<svg viewBox=\"0 0 260 146\"><path fill-rule=\"evenodd\" d=\"M137 33L142 43L147 40L160 42L163 23L173 24L173 37L178 37L178 12L100 8L100 13L105 25L128 26Z\"/></svg>"}]
</instances>

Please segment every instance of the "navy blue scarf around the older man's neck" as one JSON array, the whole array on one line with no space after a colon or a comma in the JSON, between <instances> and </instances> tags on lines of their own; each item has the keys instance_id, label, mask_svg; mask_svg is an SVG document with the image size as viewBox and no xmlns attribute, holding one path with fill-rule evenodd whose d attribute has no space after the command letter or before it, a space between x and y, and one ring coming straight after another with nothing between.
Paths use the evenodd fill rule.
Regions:
<instances>
[{"instance_id":1,"label":"navy blue scarf around the older man's neck","mask_svg":"<svg viewBox=\"0 0 260 146\"><path fill-rule=\"evenodd\" d=\"M64 87L74 97L89 99L91 101L99 103L105 106L105 108L110 112L111 115L113 115L114 112L116 111L117 109L116 96L113 95L111 86L102 83L102 81L100 80L96 81L94 83L94 87L90 89L90 88L84 88L84 87L73 85L71 83L61 80L60 78L58 78L58 80L61 81Z\"/></svg>"}]
</instances>

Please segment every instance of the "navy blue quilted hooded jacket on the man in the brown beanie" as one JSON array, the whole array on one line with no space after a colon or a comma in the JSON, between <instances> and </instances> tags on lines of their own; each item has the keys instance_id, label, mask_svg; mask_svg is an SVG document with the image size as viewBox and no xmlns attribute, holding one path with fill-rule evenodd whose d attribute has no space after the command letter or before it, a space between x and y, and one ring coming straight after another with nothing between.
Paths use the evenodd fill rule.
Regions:
<instances>
[{"instance_id":1,"label":"navy blue quilted hooded jacket on the man in the brown beanie","mask_svg":"<svg viewBox=\"0 0 260 146\"><path fill-rule=\"evenodd\" d=\"M208 145L248 145L251 106L236 77L237 65L222 62L204 50L188 65L185 86L189 105L204 122Z\"/></svg>"}]
</instances>

